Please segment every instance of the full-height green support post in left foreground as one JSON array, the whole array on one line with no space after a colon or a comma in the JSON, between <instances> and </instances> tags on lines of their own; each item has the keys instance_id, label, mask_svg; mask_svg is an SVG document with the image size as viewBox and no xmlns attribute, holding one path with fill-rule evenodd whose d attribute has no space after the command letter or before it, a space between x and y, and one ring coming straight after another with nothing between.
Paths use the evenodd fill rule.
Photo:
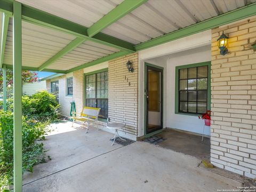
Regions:
<instances>
[{"instance_id":1,"label":"full-height green support post in left foreground","mask_svg":"<svg viewBox=\"0 0 256 192\"><path fill-rule=\"evenodd\" d=\"M21 3L13 1L13 155L14 192L22 192Z\"/></svg>"}]
</instances>

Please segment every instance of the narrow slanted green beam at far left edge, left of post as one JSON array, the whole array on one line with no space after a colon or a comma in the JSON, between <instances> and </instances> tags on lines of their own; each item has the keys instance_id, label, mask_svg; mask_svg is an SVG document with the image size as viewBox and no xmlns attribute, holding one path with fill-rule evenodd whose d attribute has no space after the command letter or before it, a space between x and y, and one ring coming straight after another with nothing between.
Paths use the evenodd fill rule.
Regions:
<instances>
[{"instance_id":1,"label":"narrow slanted green beam at far left edge, left of post","mask_svg":"<svg viewBox=\"0 0 256 192\"><path fill-rule=\"evenodd\" d=\"M5 44L6 44L6 38L7 38L8 25L9 25L9 18L10 18L10 16L8 14L6 14L6 13L3 14L0 68L3 68L4 51L5 51Z\"/></svg>"}]
</instances>

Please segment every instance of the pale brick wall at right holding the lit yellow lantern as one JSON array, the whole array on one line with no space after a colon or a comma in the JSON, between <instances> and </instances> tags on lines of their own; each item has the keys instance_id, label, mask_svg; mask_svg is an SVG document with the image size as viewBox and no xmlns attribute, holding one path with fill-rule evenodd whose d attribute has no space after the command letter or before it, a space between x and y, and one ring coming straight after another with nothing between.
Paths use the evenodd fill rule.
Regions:
<instances>
[{"instance_id":1,"label":"pale brick wall at right holding the lit yellow lantern","mask_svg":"<svg viewBox=\"0 0 256 192\"><path fill-rule=\"evenodd\" d=\"M229 35L229 54L220 55L217 39ZM256 19L212 30L211 162L256 177Z\"/></svg>"}]
</instances>

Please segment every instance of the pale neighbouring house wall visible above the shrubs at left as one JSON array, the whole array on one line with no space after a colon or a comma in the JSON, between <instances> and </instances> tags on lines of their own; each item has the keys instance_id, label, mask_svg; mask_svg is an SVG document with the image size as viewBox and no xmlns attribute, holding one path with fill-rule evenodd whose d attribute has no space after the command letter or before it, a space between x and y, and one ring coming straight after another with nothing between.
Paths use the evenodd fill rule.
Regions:
<instances>
[{"instance_id":1,"label":"pale neighbouring house wall visible above the shrubs at left","mask_svg":"<svg viewBox=\"0 0 256 192\"><path fill-rule=\"evenodd\" d=\"M22 86L22 91L25 95L33 95L41 90L46 90L46 81L39 80Z\"/></svg>"}]
</instances>

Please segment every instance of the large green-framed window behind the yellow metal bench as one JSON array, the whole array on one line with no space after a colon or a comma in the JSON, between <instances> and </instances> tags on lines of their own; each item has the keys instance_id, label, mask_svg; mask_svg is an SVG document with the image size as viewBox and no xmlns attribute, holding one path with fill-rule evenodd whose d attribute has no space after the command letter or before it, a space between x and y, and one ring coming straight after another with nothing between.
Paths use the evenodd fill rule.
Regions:
<instances>
[{"instance_id":1,"label":"large green-framed window behind the yellow metal bench","mask_svg":"<svg viewBox=\"0 0 256 192\"><path fill-rule=\"evenodd\" d=\"M108 71L87 74L86 81L86 106L100 107L101 118L108 118Z\"/></svg>"}]
</instances>

